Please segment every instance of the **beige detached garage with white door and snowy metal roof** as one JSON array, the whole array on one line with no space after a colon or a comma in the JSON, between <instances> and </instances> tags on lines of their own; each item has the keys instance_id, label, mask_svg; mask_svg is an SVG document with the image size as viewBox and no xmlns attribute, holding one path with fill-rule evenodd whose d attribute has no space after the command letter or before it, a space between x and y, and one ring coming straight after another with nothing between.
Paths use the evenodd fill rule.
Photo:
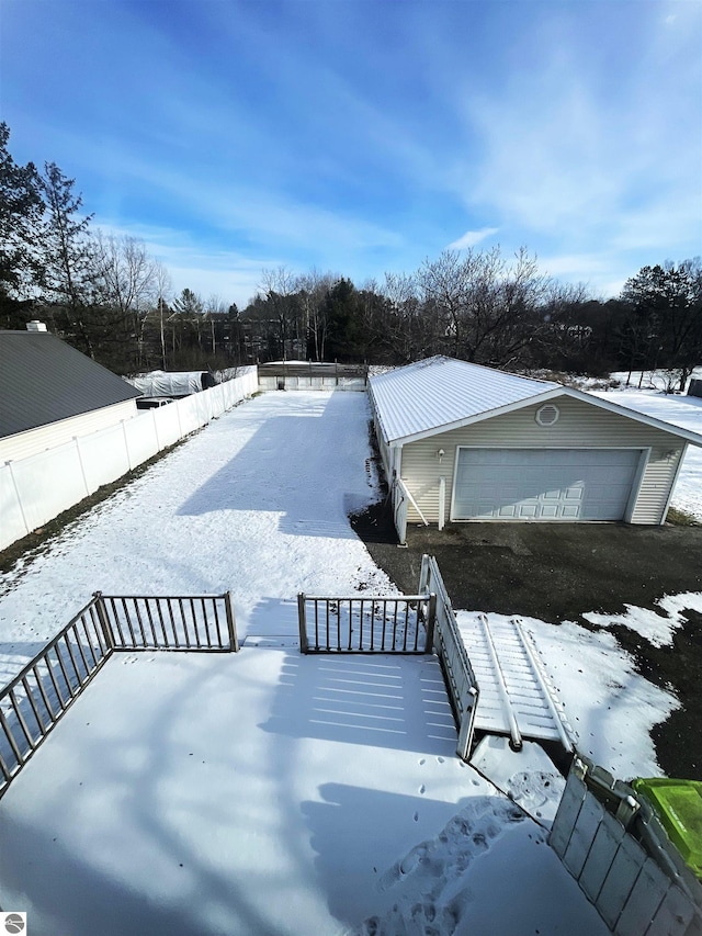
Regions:
<instances>
[{"instance_id":1,"label":"beige detached garage with white door and snowy metal roof","mask_svg":"<svg viewBox=\"0 0 702 936\"><path fill-rule=\"evenodd\" d=\"M702 436L553 381L435 357L371 377L400 541L410 522L664 523Z\"/></svg>"}]
</instances>

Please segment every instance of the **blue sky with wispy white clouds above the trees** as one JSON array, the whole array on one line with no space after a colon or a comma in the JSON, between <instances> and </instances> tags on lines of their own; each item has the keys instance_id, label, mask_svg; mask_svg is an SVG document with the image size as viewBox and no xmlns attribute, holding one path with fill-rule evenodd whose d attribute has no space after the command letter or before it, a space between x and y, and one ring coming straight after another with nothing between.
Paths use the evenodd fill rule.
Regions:
<instances>
[{"instance_id":1,"label":"blue sky with wispy white clouds above the trees","mask_svg":"<svg viewBox=\"0 0 702 936\"><path fill-rule=\"evenodd\" d=\"M615 294L702 252L699 0L0 0L15 160L240 307L448 248Z\"/></svg>"}]
</instances>

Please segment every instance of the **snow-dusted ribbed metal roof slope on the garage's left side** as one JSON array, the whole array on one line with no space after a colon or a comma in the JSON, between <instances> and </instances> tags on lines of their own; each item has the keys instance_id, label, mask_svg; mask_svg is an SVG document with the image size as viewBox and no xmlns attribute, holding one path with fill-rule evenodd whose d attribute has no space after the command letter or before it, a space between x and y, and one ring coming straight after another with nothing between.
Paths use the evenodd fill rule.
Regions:
<instances>
[{"instance_id":1,"label":"snow-dusted ribbed metal roof slope on the garage's left side","mask_svg":"<svg viewBox=\"0 0 702 936\"><path fill-rule=\"evenodd\" d=\"M539 381L437 356L370 381L388 442L561 390Z\"/></svg>"}]
</instances>

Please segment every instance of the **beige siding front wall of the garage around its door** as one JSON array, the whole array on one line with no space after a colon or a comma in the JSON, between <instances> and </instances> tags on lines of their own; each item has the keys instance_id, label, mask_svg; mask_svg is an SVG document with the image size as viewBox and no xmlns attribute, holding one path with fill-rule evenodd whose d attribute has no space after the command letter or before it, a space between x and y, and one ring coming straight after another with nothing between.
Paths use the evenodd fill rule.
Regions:
<instances>
[{"instance_id":1,"label":"beige siding front wall of the garage around its door","mask_svg":"<svg viewBox=\"0 0 702 936\"><path fill-rule=\"evenodd\" d=\"M445 519L450 519L455 453L458 446L510 449L635 448L650 449L650 454L631 522L661 523L684 442L668 432L577 399L559 397L552 402L561 414L554 426L540 426L535 418L539 406L528 406L462 429L406 443L403 447L401 477L427 520L431 523L439 521L441 476L445 478L446 485ZM444 454L440 458L438 452L441 449ZM411 505L408 519L411 522L420 520Z\"/></svg>"}]
</instances>

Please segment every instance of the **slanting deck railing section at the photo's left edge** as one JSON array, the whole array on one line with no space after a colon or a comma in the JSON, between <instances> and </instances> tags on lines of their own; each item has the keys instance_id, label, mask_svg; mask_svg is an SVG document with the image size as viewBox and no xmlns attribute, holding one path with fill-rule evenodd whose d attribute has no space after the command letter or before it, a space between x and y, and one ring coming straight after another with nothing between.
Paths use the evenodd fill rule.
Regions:
<instances>
[{"instance_id":1,"label":"slanting deck railing section at the photo's left edge","mask_svg":"<svg viewBox=\"0 0 702 936\"><path fill-rule=\"evenodd\" d=\"M0 796L111 653L93 599L0 692Z\"/></svg>"}]
</instances>

